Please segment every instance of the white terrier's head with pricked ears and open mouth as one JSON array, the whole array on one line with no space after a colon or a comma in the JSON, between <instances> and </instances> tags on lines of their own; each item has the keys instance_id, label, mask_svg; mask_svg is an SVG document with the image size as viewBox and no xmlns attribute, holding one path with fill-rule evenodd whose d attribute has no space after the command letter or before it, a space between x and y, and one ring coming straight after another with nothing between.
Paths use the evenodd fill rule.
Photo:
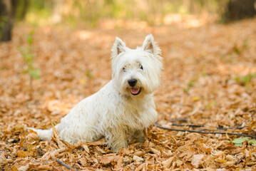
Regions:
<instances>
[{"instance_id":1,"label":"white terrier's head with pricked ears and open mouth","mask_svg":"<svg viewBox=\"0 0 256 171\"><path fill-rule=\"evenodd\" d=\"M162 57L152 34L136 49L116 38L112 47L113 81L123 95L141 96L153 93L160 84Z\"/></svg>"}]
</instances>

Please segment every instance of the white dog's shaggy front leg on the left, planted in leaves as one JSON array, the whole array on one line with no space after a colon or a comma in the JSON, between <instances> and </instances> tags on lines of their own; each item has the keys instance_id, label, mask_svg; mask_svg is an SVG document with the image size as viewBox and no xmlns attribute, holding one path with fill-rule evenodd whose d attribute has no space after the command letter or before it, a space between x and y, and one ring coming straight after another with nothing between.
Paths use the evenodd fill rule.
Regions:
<instances>
[{"instance_id":1,"label":"white dog's shaggy front leg on the left, planted in leaves","mask_svg":"<svg viewBox=\"0 0 256 171\"><path fill-rule=\"evenodd\" d=\"M107 145L115 152L118 152L121 147L128 147L126 131L122 128L111 128L106 138L108 139Z\"/></svg>"}]
</instances>

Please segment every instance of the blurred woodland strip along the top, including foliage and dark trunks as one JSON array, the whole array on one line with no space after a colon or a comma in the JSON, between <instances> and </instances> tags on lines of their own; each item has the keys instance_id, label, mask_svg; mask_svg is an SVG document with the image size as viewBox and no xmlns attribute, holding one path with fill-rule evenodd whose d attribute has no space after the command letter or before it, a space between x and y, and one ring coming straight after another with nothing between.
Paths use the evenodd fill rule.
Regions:
<instances>
[{"instance_id":1,"label":"blurred woodland strip along the top, including foliage and dark trunks","mask_svg":"<svg viewBox=\"0 0 256 171\"><path fill-rule=\"evenodd\" d=\"M82 28L122 27L123 21L160 26L200 16L228 23L255 16L255 0L0 0L1 41L11 40L16 24L68 24Z\"/></svg>"}]
</instances>

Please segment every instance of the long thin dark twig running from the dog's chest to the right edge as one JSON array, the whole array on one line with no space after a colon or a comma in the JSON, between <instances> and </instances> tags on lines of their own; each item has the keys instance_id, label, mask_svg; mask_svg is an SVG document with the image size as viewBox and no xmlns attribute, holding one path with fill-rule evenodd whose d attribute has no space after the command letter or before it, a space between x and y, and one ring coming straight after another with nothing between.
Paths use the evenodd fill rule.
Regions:
<instances>
[{"instance_id":1,"label":"long thin dark twig running from the dog's chest to the right edge","mask_svg":"<svg viewBox=\"0 0 256 171\"><path fill-rule=\"evenodd\" d=\"M204 131L200 131L200 130L181 130L181 129L174 129L174 128L166 128L166 127L158 125L157 123L155 123L154 125L158 128L164 129L164 130L174 130L174 131L189 132L189 133L202 133L202 134L227 134L227 135L237 135L237 136L241 136L241 137L256 138L256 136L253 136L253 135L246 135L246 134L240 134L240 133L204 132Z\"/></svg>"}]
</instances>

